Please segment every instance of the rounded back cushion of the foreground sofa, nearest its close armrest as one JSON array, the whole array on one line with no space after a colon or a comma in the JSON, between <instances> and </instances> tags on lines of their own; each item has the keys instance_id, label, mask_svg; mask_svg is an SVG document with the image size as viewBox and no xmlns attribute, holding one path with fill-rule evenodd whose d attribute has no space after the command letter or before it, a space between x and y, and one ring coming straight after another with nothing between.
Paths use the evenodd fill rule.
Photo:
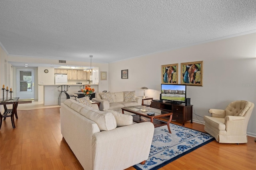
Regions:
<instances>
[{"instance_id":1,"label":"rounded back cushion of the foreground sofa, nearest its close armrest","mask_svg":"<svg viewBox=\"0 0 256 170\"><path fill-rule=\"evenodd\" d=\"M116 119L112 113L99 111L92 107L84 106L80 114L97 123L100 131L116 128Z\"/></svg>"}]
</instances>

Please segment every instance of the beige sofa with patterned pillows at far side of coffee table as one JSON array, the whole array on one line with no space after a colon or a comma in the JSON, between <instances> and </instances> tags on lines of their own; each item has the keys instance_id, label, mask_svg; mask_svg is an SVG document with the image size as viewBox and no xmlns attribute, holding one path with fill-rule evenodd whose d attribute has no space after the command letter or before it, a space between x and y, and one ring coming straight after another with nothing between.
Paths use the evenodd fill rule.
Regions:
<instances>
[{"instance_id":1,"label":"beige sofa with patterned pillows at far side of coffee table","mask_svg":"<svg viewBox=\"0 0 256 170\"><path fill-rule=\"evenodd\" d=\"M122 91L114 93L96 93L92 101L100 102L100 111L110 109L122 113L122 107L138 106L142 98L135 96L135 91Z\"/></svg>"}]
</instances>

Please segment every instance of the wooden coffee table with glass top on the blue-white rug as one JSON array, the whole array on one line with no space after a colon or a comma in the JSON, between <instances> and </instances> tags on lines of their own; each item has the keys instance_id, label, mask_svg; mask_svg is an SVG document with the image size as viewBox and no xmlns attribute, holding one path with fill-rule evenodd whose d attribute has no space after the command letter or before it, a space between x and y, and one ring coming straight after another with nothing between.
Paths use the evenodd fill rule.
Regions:
<instances>
[{"instance_id":1,"label":"wooden coffee table with glass top on the blue-white rug","mask_svg":"<svg viewBox=\"0 0 256 170\"><path fill-rule=\"evenodd\" d=\"M155 128L167 125L169 132L172 133L170 130L170 122L172 121L172 112L170 111L164 111L164 110L155 109L152 107L145 107L145 106L123 107L121 109L123 114L124 114L124 111L134 113L135 115L132 115L132 117L133 117L133 121L136 123L151 122L154 124ZM155 113L155 115L149 116L147 115L147 113ZM167 123L157 119L157 118L167 117L167 116L170 116L170 119L168 120Z\"/></svg>"}]
</instances>

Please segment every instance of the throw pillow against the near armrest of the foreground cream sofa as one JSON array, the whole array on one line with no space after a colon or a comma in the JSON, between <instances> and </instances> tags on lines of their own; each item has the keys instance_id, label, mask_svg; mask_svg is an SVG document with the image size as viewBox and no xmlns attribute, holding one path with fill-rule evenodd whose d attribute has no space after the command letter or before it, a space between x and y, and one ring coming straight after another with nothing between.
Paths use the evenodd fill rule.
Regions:
<instances>
[{"instance_id":1,"label":"throw pillow against the near armrest of the foreground cream sofa","mask_svg":"<svg viewBox=\"0 0 256 170\"><path fill-rule=\"evenodd\" d=\"M105 112L110 112L114 115L116 119L116 125L117 127L122 127L122 126L127 126L127 125L132 125L132 116L131 115L124 115L122 113L118 113L116 111L112 111L109 109L103 109Z\"/></svg>"}]
</instances>

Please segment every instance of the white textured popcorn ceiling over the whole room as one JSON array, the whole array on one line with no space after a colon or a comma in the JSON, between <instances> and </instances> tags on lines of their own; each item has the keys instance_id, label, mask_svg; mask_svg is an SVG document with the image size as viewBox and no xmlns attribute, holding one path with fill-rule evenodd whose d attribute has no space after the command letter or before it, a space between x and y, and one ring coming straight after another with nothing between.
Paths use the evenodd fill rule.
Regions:
<instances>
[{"instance_id":1,"label":"white textured popcorn ceiling over the whole room","mask_svg":"<svg viewBox=\"0 0 256 170\"><path fill-rule=\"evenodd\" d=\"M256 0L0 0L9 55L110 63L256 31Z\"/></svg>"}]
</instances>

